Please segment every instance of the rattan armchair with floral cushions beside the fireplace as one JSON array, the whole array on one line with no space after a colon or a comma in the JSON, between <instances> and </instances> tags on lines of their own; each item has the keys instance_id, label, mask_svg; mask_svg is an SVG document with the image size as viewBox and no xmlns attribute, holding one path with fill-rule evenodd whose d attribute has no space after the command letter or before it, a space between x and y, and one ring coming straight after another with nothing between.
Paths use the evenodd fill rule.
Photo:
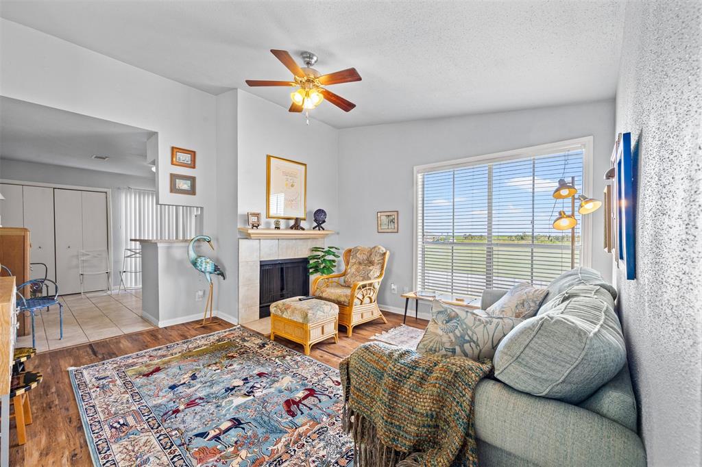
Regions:
<instances>
[{"instance_id":1,"label":"rattan armchair with floral cushions beside the fireplace","mask_svg":"<svg viewBox=\"0 0 702 467\"><path fill-rule=\"evenodd\" d=\"M339 306L339 324L351 337L353 328L380 318L378 290L385 274L390 252L381 246L349 248L343 254L343 273L318 276L312 281L312 295Z\"/></svg>"}]
</instances>

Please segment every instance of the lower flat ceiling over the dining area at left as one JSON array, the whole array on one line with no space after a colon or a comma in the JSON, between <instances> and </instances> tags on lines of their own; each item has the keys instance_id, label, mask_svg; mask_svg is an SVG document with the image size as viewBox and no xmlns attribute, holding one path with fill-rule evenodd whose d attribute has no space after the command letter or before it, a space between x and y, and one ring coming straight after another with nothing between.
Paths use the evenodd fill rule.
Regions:
<instances>
[{"instance_id":1,"label":"lower flat ceiling over the dining area at left","mask_svg":"<svg viewBox=\"0 0 702 467\"><path fill-rule=\"evenodd\" d=\"M2 158L154 177L146 159L152 131L9 97L0 108Z\"/></svg>"}]
</instances>

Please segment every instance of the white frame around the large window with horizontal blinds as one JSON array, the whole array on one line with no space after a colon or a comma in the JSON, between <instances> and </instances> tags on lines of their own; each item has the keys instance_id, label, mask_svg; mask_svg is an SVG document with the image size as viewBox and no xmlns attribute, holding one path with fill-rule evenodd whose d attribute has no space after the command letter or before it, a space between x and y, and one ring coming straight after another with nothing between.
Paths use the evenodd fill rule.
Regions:
<instances>
[{"instance_id":1,"label":"white frame around the large window with horizontal blinds","mask_svg":"<svg viewBox=\"0 0 702 467\"><path fill-rule=\"evenodd\" d=\"M418 229L417 223L419 221L419 206L418 206L418 192L417 192L417 176L420 173L432 172L435 170L450 170L455 168L468 167L470 165L483 165L486 163L498 163L505 161L513 161L520 158L530 158L534 156L547 156L549 154L556 154L559 151L565 151L570 147L574 146L583 147L583 193L592 196L592 164L593 164L593 145L594 138L592 135L574 138L572 140L564 140L558 142L552 142L547 144L538 144L536 146L525 147L522 149L511 149L509 151L501 151L492 154L483 154L479 156L469 156L460 159L453 159L450 161L415 165L413 168L413 246L412 246L412 279L413 279L413 290L417 290L418 287ZM554 187L555 189L555 187ZM581 216L581 249L580 249L580 259L581 266L590 267L592 265L592 216Z\"/></svg>"}]
</instances>

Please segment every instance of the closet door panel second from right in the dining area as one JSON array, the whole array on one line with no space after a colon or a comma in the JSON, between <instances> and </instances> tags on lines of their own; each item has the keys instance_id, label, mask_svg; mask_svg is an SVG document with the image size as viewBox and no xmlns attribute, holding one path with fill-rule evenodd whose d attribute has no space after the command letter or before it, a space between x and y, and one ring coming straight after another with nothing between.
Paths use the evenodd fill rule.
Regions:
<instances>
[{"instance_id":1,"label":"closet door panel second from right in the dining area","mask_svg":"<svg viewBox=\"0 0 702 467\"><path fill-rule=\"evenodd\" d=\"M81 291L78 252L83 249L83 200L77 190L54 189L56 282L61 295Z\"/></svg>"}]
</instances>

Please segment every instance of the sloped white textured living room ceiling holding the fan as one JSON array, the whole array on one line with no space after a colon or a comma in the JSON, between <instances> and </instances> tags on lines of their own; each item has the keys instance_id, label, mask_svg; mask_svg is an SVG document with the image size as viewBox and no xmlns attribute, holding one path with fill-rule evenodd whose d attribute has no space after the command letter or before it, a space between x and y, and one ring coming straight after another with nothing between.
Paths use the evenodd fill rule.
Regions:
<instances>
[{"instance_id":1,"label":"sloped white textured living room ceiling holding the fan","mask_svg":"<svg viewBox=\"0 0 702 467\"><path fill-rule=\"evenodd\" d=\"M268 51L319 55L337 128L526 109L614 97L621 1L8 1L0 15L161 76L218 94L242 88L289 107L289 79Z\"/></svg>"}]
</instances>

